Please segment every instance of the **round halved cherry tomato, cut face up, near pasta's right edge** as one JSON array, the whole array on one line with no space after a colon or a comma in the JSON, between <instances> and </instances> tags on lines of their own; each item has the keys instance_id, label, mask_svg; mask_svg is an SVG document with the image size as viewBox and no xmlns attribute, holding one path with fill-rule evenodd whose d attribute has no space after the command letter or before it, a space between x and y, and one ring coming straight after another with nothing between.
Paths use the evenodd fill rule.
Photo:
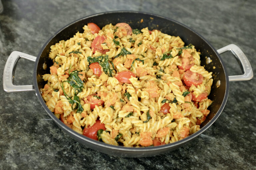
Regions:
<instances>
[{"instance_id":1,"label":"round halved cherry tomato, cut face up, near pasta's right edge","mask_svg":"<svg viewBox=\"0 0 256 170\"><path fill-rule=\"evenodd\" d=\"M204 77L202 74L194 73L190 70L186 71L183 76L184 83L188 87L192 86L192 84L195 86L202 84L203 79L204 79Z\"/></svg>"}]
</instances>

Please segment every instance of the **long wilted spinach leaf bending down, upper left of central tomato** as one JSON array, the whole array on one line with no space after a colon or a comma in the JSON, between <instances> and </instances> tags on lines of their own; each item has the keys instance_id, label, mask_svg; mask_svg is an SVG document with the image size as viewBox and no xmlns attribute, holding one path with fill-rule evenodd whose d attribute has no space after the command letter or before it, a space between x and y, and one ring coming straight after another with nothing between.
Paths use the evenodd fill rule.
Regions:
<instances>
[{"instance_id":1,"label":"long wilted spinach leaf bending down, upper left of central tomato","mask_svg":"<svg viewBox=\"0 0 256 170\"><path fill-rule=\"evenodd\" d=\"M89 65L91 63L94 63L94 62L98 62L100 64L100 66L102 67L103 71L105 74L108 74L109 77L112 77L112 71L114 70L114 67L113 69L110 68L110 65L109 65L109 60L108 60L108 55L102 55L102 56L98 56L98 57L87 57L87 61L89 62ZM113 66L113 63L110 62Z\"/></svg>"}]
</instances>

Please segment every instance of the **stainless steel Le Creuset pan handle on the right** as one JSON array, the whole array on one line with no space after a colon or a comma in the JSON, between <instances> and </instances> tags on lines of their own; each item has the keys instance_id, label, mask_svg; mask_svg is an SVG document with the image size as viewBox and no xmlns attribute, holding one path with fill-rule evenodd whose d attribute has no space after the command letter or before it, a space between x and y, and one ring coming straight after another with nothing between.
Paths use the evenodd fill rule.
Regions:
<instances>
[{"instance_id":1,"label":"stainless steel Le Creuset pan handle on the right","mask_svg":"<svg viewBox=\"0 0 256 170\"><path fill-rule=\"evenodd\" d=\"M219 54L222 54L226 51L232 52L244 73L242 75L228 76L229 81L251 80L253 78L252 67L243 51L235 44L229 44L217 50Z\"/></svg>"}]
</instances>

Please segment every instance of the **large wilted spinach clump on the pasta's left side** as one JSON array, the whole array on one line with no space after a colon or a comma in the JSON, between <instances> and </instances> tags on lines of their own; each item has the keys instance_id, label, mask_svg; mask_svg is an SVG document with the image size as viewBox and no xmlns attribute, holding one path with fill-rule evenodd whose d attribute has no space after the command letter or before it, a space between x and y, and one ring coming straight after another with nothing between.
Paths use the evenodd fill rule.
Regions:
<instances>
[{"instance_id":1,"label":"large wilted spinach clump on the pasta's left side","mask_svg":"<svg viewBox=\"0 0 256 170\"><path fill-rule=\"evenodd\" d=\"M70 86L74 88L75 95L80 93L84 88L84 83L79 78L77 70L72 71L72 73L70 73L70 76L67 79L68 79L67 82L70 84Z\"/></svg>"}]
</instances>

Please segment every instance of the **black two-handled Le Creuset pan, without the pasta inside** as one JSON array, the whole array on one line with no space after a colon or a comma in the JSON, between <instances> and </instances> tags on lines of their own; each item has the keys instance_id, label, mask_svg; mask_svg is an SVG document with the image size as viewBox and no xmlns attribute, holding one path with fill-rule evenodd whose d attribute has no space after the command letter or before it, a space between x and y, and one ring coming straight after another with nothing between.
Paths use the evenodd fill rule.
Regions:
<instances>
[{"instance_id":1,"label":"black two-handled Le Creuset pan, without the pasta inside","mask_svg":"<svg viewBox=\"0 0 256 170\"><path fill-rule=\"evenodd\" d=\"M143 19L143 22L141 22L141 19ZM210 95L208 96L208 98L211 99L213 103L208 108L210 110L210 114L206 118L205 122L202 123L201 130L186 137L185 139L167 145L143 148L127 148L123 146L109 145L85 137L68 128L59 119L57 119L54 116L54 114L47 108L40 93L40 88L43 88L46 83L42 79L42 75L49 73L49 67L52 65L52 60L48 57L48 54L50 52L50 46L61 40L70 39L78 31L83 32L82 27L90 22L97 24L100 28L109 23L115 25L120 22L128 23L133 29L142 29L148 27L149 30L157 29L163 33L172 36L180 36L180 38L185 42L185 45L188 45L189 43L195 45L195 48L202 53L201 65L204 65L205 69L209 72L213 72L212 90ZM228 77L224 63L219 55L220 53L223 53L225 51L231 51L233 55L237 58L243 70L243 75ZM25 58L31 61L35 61L33 77L34 86L13 85L12 82L14 70L19 58ZM213 66L215 66L215 69L213 68ZM226 104L229 90L229 81L250 80L252 79L252 77L253 72L248 59L241 51L241 49L234 44L230 44L216 51L216 49L202 36L197 34L192 29L186 27L185 25L178 23L177 21L144 12L114 11L103 12L87 16L66 25L65 27L57 31L43 45L37 57L21 53L18 51L13 51L10 54L4 68L3 86L6 92L35 90L36 95L38 96L38 99L42 104L43 108L49 114L49 116L55 121L55 123L75 140L85 144L86 146L110 155L123 157L145 157L169 152L177 147L184 145L188 141L191 141L193 138L204 132L216 121L216 119L219 117Z\"/></svg>"}]
</instances>

